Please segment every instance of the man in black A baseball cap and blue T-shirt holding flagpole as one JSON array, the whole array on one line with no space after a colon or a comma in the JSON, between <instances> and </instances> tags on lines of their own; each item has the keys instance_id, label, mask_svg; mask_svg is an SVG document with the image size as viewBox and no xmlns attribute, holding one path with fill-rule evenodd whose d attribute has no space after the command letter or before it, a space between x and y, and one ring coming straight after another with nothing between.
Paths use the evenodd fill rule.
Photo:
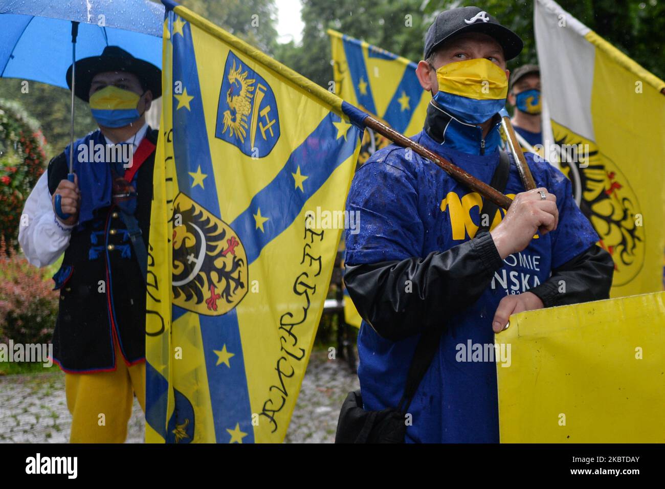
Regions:
<instances>
[{"instance_id":1,"label":"man in black A baseball cap and blue T-shirt holding flagpole","mask_svg":"<svg viewBox=\"0 0 665 489\"><path fill-rule=\"evenodd\" d=\"M416 70L433 98L412 139L489 184L506 162L505 63L522 47L478 7L440 13ZM609 296L612 259L570 181L533 154L527 162L538 188L526 192L512 164L513 204L486 224L481 196L412 150L383 148L354 176L346 209L360 212L360 232L346 232L344 281L363 319L364 410L401 405L420 337L442 329L406 411L407 442L498 442L497 364L470 350L494 351L511 314Z\"/></svg>"}]
</instances>

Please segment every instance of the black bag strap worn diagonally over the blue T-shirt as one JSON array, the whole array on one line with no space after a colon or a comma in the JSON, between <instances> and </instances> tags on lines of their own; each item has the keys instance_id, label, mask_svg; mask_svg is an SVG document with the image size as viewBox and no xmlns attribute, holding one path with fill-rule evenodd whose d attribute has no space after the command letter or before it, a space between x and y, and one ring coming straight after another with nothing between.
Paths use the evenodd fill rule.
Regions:
<instances>
[{"instance_id":1,"label":"black bag strap worn diagonally over the blue T-shirt","mask_svg":"<svg viewBox=\"0 0 665 489\"><path fill-rule=\"evenodd\" d=\"M499 192L503 192L505 190L506 184L508 183L509 174L510 159L505 151L501 151L499 152L499 165L494 171L490 185L493 186L496 190L499 190ZM480 218L482 222L483 214L490 216L489 224L487 226L481 226L477 233L487 231L489 229L491 220L493 216L495 216L497 209L497 204L494 204L494 202L491 202L489 199L485 199L483 202L483 208L480 211ZM416 345L416 351L414 352L414 357L409 367L409 373L406 377L404 395L402 395L402 399L400 399L400 403L397 406L397 409L402 412L402 414L406 414L406 410L408 410L411 404L411 400L416 394L416 389L418 389L420 381L422 381L422 378L425 377L425 373L430 368L430 363L432 363L434 354L439 348L441 334L443 333L445 327L446 323L442 322L437 327L432 327L426 331L423 331L420 335L418 345Z\"/></svg>"}]
</instances>

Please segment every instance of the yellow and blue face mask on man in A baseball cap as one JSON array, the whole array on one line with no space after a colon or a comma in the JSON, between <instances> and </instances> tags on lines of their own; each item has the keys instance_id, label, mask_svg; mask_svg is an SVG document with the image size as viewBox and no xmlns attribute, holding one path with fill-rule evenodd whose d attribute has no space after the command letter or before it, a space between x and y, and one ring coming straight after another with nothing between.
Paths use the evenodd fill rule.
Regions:
<instances>
[{"instance_id":1,"label":"yellow and blue face mask on man in A baseball cap","mask_svg":"<svg viewBox=\"0 0 665 489\"><path fill-rule=\"evenodd\" d=\"M485 58L456 61L436 71L434 100L467 124L481 124L505 106L505 71Z\"/></svg>"}]
</instances>

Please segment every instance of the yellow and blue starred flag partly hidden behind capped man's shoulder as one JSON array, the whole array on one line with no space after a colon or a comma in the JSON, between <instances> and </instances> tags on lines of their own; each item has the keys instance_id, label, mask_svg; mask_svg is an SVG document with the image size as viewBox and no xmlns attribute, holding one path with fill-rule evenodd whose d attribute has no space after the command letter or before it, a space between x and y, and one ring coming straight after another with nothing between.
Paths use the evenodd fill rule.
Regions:
<instances>
[{"instance_id":1,"label":"yellow and blue starred flag partly hidden behind capped man's shoulder","mask_svg":"<svg viewBox=\"0 0 665 489\"><path fill-rule=\"evenodd\" d=\"M418 65L332 29L328 34L336 93L406 136L420 132L431 97L418 82ZM390 140L367 130L360 162L388 144Z\"/></svg>"}]
</instances>

